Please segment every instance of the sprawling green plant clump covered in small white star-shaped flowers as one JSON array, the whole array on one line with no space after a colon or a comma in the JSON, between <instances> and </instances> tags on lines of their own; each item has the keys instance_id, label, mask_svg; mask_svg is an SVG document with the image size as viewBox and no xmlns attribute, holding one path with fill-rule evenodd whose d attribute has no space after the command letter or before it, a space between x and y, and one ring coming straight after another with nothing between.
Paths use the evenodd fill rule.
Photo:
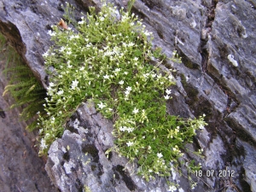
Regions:
<instances>
[{"instance_id":1,"label":"sprawling green plant clump covered in small white star-shaped flowers","mask_svg":"<svg viewBox=\"0 0 256 192\"><path fill-rule=\"evenodd\" d=\"M113 120L117 139L108 152L137 159L138 174L147 180L155 174L170 176L184 144L192 143L195 131L207 124L203 117L182 119L166 113L175 79L172 69L160 70L166 56L152 50L152 33L137 16L110 4L98 14L90 8L90 15L74 26L75 30L52 26L49 31L55 45L44 53L50 76L44 110L49 118L39 117L40 154L47 154L67 119L90 100ZM158 65L149 64L153 58Z\"/></svg>"}]
</instances>

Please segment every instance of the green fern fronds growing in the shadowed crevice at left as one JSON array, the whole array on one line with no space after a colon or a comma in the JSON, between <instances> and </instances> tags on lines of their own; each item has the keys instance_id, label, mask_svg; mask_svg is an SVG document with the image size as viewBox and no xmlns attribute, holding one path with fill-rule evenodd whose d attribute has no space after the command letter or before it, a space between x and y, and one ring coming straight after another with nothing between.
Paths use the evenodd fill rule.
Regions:
<instances>
[{"instance_id":1,"label":"green fern fronds growing in the shadowed crevice at left","mask_svg":"<svg viewBox=\"0 0 256 192\"><path fill-rule=\"evenodd\" d=\"M37 127L37 112L44 111L46 91L35 78L31 69L22 62L20 55L7 44L2 34L0 35L0 44L2 45L3 60L6 60L3 73L9 79L3 96L9 93L15 99L15 103L11 105L10 109L22 107L21 120L34 118L32 123L26 127L32 131Z\"/></svg>"}]
</instances>

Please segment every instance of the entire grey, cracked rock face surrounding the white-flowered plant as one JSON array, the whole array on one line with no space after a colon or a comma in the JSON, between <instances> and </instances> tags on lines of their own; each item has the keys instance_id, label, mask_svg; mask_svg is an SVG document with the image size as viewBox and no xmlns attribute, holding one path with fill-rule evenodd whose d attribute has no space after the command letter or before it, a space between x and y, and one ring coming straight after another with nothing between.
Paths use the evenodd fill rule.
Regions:
<instances>
[{"instance_id":1,"label":"entire grey, cracked rock face surrounding the white-flowered plant","mask_svg":"<svg viewBox=\"0 0 256 192\"><path fill-rule=\"evenodd\" d=\"M76 14L100 1L69 1ZM42 54L48 49L49 26L63 14L61 1L0 2L0 30L18 49L45 85ZM126 1L113 2L126 6ZM202 177L193 177L197 191L256 191L256 3L238 0L139 1L132 11L154 32L155 46L167 56L174 49L183 63L166 61L177 69L177 86L168 112L182 117L207 115L206 130L189 149L204 148L205 158L185 154L202 164ZM167 191L166 180L146 183L132 174L136 166L105 151L113 146L112 124L91 104L73 115L63 136L49 149L46 170L61 191ZM214 170L207 177L207 170ZM231 174L232 173L232 174ZM179 180L189 191L185 177Z\"/></svg>"}]
</instances>

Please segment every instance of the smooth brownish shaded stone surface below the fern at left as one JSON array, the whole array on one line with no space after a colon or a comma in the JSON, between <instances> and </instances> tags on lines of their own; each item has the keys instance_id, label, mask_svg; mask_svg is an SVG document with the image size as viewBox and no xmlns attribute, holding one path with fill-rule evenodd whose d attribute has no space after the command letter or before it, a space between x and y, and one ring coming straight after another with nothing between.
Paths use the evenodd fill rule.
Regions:
<instances>
[{"instance_id":1,"label":"smooth brownish shaded stone surface below the fern at left","mask_svg":"<svg viewBox=\"0 0 256 192\"><path fill-rule=\"evenodd\" d=\"M0 191L2 192L55 192L47 172L45 162L38 157L34 147L36 134L25 130L26 124L19 120L20 108L8 109L14 102L9 96L2 96L7 84L3 75L6 61L0 52Z\"/></svg>"}]
</instances>

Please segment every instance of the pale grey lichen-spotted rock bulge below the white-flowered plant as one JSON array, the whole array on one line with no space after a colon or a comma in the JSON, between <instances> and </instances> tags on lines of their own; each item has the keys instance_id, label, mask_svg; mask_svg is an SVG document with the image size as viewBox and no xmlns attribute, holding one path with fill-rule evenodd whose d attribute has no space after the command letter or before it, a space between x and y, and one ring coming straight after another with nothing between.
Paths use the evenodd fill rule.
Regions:
<instances>
[{"instance_id":1,"label":"pale grey lichen-spotted rock bulge below the white-flowered plant","mask_svg":"<svg viewBox=\"0 0 256 192\"><path fill-rule=\"evenodd\" d=\"M84 103L68 122L61 139L49 148L46 171L56 187L61 191L82 191L84 186L92 192L167 191L164 178L147 183L135 174L136 164L116 153L106 156L107 149L114 146L112 131L112 122L96 113L91 103ZM173 175L172 182L172 178L178 179ZM183 178L180 180L184 183ZM189 189L185 183L182 187Z\"/></svg>"}]
</instances>

